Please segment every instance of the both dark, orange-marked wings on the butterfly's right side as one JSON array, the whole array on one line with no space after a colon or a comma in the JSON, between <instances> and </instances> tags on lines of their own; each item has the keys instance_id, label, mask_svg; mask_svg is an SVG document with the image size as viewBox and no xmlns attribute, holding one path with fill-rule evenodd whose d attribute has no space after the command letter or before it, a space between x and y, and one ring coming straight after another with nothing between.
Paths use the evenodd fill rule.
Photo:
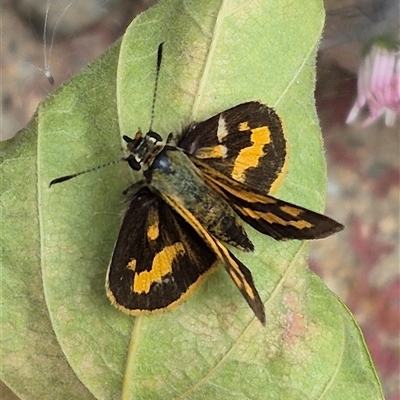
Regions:
<instances>
[{"instance_id":1,"label":"both dark, orange-marked wings on the butterfly's right side","mask_svg":"<svg viewBox=\"0 0 400 400\"><path fill-rule=\"evenodd\" d=\"M240 217L277 240L319 239L343 229L322 214L268 193L285 175L287 144L269 107L243 103L193 126L179 146Z\"/></svg>"}]
</instances>

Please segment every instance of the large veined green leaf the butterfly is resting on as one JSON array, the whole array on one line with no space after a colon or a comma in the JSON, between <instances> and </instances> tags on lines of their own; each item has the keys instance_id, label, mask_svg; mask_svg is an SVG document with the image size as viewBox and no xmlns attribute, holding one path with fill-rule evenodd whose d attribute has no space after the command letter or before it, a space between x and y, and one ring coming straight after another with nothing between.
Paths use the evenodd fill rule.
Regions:
<instances>
[{"instance_id":1,"label":"large veined green leaf the butterfly is resting on","mask_svg":"<svg viewBox=\"0 0 400 400\"><path fill-rule=\"evenodd\" d=\"M222 268L173 311L133 318L104 290L129 167L48 187L118 159L121 135L148 128L165 42L154 130L166 136L238 103L266 102L290 144L277 197L322 210L313 99L322 3L306 11L288 0L161 2L2 145L2 373L21 397L383 398L351 314L307 268L307 245L249 228L256 251L235 251L265 302L266 328Z\"/></svg>"}]
</instances>

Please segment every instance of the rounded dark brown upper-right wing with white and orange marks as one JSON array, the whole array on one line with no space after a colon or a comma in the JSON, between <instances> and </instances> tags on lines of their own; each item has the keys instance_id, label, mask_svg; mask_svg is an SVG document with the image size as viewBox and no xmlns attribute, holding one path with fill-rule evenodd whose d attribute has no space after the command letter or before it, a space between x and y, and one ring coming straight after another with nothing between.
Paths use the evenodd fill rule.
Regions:
<instances>
[{"instance_id":1,"label":"rounded dark brown upper-right wing with white and orange marks","mask_svg":"<svg viewBox=\"0 0 400 400\"><path fill-rule=\"evenodd\" d=\"M195 164L259 193L285 173L287 142L275 111L258 102L239 104L192 126L181 147Z\"/></svg>"}]
</instances>

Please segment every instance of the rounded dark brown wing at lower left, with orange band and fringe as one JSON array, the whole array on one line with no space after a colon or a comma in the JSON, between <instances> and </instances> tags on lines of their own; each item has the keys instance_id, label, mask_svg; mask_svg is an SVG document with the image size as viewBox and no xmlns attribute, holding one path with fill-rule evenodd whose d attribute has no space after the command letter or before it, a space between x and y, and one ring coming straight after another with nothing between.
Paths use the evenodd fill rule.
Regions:
<instances>
[{"instance_id":1,"label":"rounded dark brown wing at lower left, with orange band and fringe","mask_svg":"<svg viewBox=\"0 0 400 400\"><path fill-rule=\"evenodd\" d=\"M217 257L161 198L141 189L122 222L107 275L107 295L130 314L185 298Z\"/></svg>"}]
</instances>

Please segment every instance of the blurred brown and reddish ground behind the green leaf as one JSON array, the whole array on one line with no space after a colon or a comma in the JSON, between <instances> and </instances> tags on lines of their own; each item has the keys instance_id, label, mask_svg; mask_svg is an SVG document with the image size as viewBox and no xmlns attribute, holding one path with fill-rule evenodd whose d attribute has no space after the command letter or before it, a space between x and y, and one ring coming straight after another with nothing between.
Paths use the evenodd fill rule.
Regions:
<instances>
[{"instance_id":1,"label":"blurred brown and reddish ground behind the green leaf","mask_svg":"<svg viewBox=\"0 0 400 400\"><path fill-rule=\"evenodd\" d=\"M1 139L25 127L40 101L103 53L136 14L154 3L2 0ZM356 118L349 124L346 120L357 98L357 77L365 78L371 68L371 63L365 63L365 57L373 55L368 46L382 37L389 42L400 38L400 4L399 0L326 0L325 7L316 102L328 164L326 214L344 223L346 229L312 244L310 267L353 312L386 399L398 400L400 118L393 121L390 111L386 120L385 116L375 118L372 103L359 110L359 90L359 106L353 110ZM398 50L393 54L398 68L394 85L400 91L400 56ZM46 71L54 78L53 86ZM364 97L369 93L372 100L388 97L387 93L379 97L368 85L361 89ZM398 114L399 104L393 109ZM1 399L17 399L1 385Z\"/></svg>"}]
</instances>

